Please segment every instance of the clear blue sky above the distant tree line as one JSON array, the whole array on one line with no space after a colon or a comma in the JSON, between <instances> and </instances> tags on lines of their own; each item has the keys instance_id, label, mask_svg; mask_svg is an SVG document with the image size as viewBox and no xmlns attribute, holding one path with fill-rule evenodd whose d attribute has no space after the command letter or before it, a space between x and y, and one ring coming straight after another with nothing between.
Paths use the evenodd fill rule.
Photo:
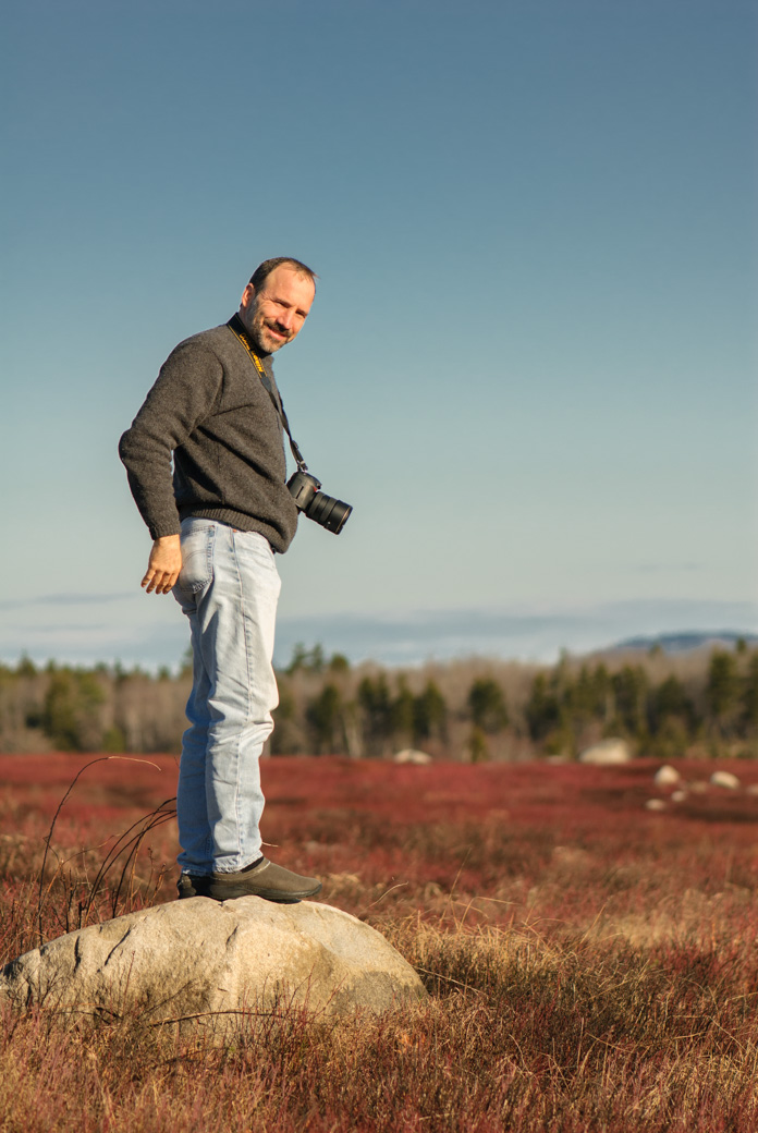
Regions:
<instances>
[{"instance_id":1,"label":"clear blue sky above the distant tree line","mask_svg":"<svg viewBox=\"0 0 758 1133\"><path fill-rule=\"evenodd\" d=\"M7 24L0 657L181 656L116 445L280 254L321 281L278 380L355 506L280 560L280 659L758 629L755 3Z\"/></svg>"}]
</instances>

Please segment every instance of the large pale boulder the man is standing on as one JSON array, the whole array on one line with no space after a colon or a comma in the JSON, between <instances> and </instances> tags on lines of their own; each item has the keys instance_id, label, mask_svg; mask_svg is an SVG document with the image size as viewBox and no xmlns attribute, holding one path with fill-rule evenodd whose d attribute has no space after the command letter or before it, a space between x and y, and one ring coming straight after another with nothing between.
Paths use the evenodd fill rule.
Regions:
<instances>
[{"instance_id":1,"label":"large pale boulder the man is standing on","mask_svg":"<svg viewBox=\"0 0 758 1133\"><path fill-rule=\"evenodd\" d=\"M210 1036L289 1004L382 1014L425 994L410 964L357 918L261 897L191 897L129 913L51 940L0 974L0 1003L176 1020Z\"/></svg>"}]
</instances>

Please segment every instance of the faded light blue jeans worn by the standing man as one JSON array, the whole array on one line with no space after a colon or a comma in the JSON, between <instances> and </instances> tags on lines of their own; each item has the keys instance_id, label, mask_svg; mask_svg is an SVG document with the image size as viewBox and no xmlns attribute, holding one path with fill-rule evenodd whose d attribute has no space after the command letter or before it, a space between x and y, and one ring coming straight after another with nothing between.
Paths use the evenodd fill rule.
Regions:
<instances>
[{"instance_id":1,"label":"faded light blue jeans worn by the standing man","mask_svg":"<svg viewBox=\"0 0 758 1133\"><path fill-rule=\"evenodd\" d=\"M261 855L258 758L279 704L272 666L281 581L267 540L211 519L181 525L173 595L193 645L177 813L182 872L236 872Z\"/></svg>"}]
</instances>

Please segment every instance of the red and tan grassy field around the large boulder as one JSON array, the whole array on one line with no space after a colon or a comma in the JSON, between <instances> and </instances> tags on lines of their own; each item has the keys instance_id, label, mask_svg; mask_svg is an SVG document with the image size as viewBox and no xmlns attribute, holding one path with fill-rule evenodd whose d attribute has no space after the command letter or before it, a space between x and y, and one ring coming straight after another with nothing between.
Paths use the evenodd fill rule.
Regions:
<instances>
[{"instance_id":1,"label":"red and tan grassy field around the large boulder","mask_svg":"<svg viewBox=\"0 0 758 1133\"><path fill-rule=\"evenodd\" d=\"M428 1007L352 1030L281 1021L223 1055L136 1021L15 1021L0 1130L755 1130L758 764L719 763L729 791L679 763L680 801L658 766L266 761L266 852L384 931ZM0 782L6 960L41 930L173 898L174 758L0 756ZM136 860L126 846L99 879L145 826ZM53 1119L50 1049L76 1121Z\"/></svg>"}]
</instances>

